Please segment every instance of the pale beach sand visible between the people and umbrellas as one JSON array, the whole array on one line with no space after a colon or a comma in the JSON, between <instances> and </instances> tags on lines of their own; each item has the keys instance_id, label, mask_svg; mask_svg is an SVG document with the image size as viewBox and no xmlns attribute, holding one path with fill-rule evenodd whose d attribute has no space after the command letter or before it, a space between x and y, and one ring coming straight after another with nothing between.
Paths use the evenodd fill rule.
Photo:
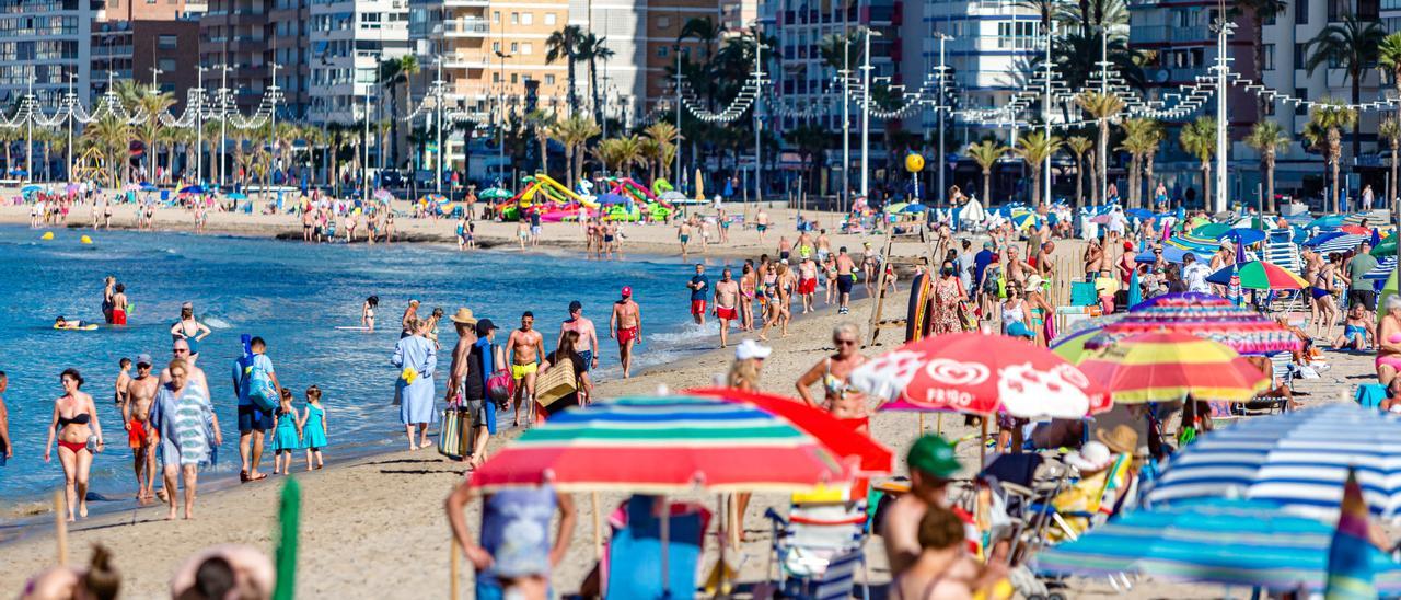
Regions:
<instances>
[{"instance_id":1,"label":"pale beach sand visible between the people and umbrellas","mask_svg":"<svg viewBox=\"0 0 1401 600\"><path fill-rule=\"evenodd\" d=\"M792 231L794 212L786 209L769 210L785 231ZM74 214L71 226L90 223L88 214ZM822 223L835 223L831 216L820 217ZM28 224L27 206L0 207L0 221ZM129 227L133 221L130 207L116 210L116 224ZM399 230L419 241L451 240L455 221L398 221ZM193 229L189 213L163 209L156 220L160 230ZM300 237L300 224L291 216L231 214L213 213L209 230L237 236L279 236ZM628 252L651 255L677 255L675 230L663 226L628 226ZM98 234L99 236L99 234ZM509 244L513 241L514 224L478 223L478 237L483 241ZM750 258L759 252L772 252L778 237L769 236L764 247L758 245L757 233L731 230L733 244L712 247L709 257ZM848 245L855 251L863 238L841 236L834 238L834 247ZM559 248L581 248L581 236L574 224L553 224L545 227L544 244ZM1077 252L1075 244L1063 244L1062 252ZM901 283L904 289L904 282ZM905 294L890 300L894 306L905 304ZM838 317L834 308L822 308L808 318L796 320L790 335L773 339L775 352L765 364L762 388L783 395L793 395L797 376L832 352L829 332L843 320L862 324L870 315L867 300L853 301L849 317ZM752 336L731 336L731 343ZM869 348L867 356L890 349L887 345ZM602 341L608 345L611 341ZM646 352L646 350L643 350ZM597 388L600 397L654 393L658 386L670 390L709 386L717 374L729 367L733 350L710 350L679 363L664 364L646 370L630 380L602 381ZM1352 387L1372 379L1372 360L1365 355L1327 355L1331 369L1317 380L1297 381L1297 390L1307 395L1300 400L1306 405L1318 402L1351 401ZM220 409L230 409L220 405ZM933 430L940 419L929 416L925 425ZM961 418L941 419L943 433L948 437L962 437L974 429L964 428ZM384 423L385 436L398 430L398 423ZM891 446L897 456L919 433L919 419L912 414L878 414L871 421L873 436ZM492 449L500 447L516 433L493 437ZM960 444L965 465L976 464L978 449L972 443ZM57 467L55 467L57 468ZM902 465L901 465L902 468ZM297 576L297 590L301 597L382 597L417 599L447 597L450 587L448 547L450 534L443 514L443 499L454 485L462 481L465 464L441 458L433 450L398 451L339 464L324 471L297 474L303 484L301 550ZM85 564L88 547L101 543L109 547L115 566L123 575L123 596L136 599L161 597L174 569L191 554L212 544L240 543L272 552L279 478L263 482L234 486L200 495L196 505L196 519L192 521L164 521L163 506L127 510L116 514L102 514L78 523L69 538L70 562ZM600 507L611 512L623 496L604 493ZM715 506L716 498L709 493L693 493L682 499L693 499ZM593 544L593 523L595 519L587 496L576 498L580 509L579 529L572 540L565 562L555 571L556 590L572 593L593 568L595 551ZM759 516L769 506L785 506L787 496L758 495L750 509L747 529L750 540L743 547L741 582L755 582L764 578L769 547L768 523ZM468 523L479 523L479 505L474 505ZM713 527L713 526L712 526ZM713 531L712 531L713 534ZM17 594L25 579L55 562L55 538L49 527L39 527L17 541L0 545L0 596ZM715 547L708 545L702 562L709 566L715 561ZM883 552L878 541L871 545L870 582L888 582ZM462 597L471 597L471 575L460 578ZM1139 580L1129 593L1118 593L1103 580L1072 582L1070 597L1117 596L1131 599L1149 597L1220 597L1219 586L1182 586L1163 582ZM1237 594L1248 590L1236 590Z\"/></svg>"}]
</instances>

